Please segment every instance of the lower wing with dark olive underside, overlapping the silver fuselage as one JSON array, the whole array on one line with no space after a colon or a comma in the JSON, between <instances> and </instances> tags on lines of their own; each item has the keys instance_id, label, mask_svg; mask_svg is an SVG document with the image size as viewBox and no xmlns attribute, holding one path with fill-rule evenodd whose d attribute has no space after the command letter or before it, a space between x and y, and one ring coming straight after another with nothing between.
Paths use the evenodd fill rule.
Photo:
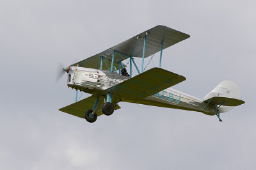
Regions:
<instances>
[{"instance_id":1,"label":"lower wing with dark olive underside, overlapping the silver fuselage","mask_svg":"<svg viewBox=\"0 0 256 170\"><path fill-rule=\"evenodd\" d=\"M121 99L140 99L174 86L179 82L185 81L182 75L169 72L162 68L151 68L146 72L140 73L127 81L116 84L106 89L109 93Z\"/></svg>"}]
</instances>

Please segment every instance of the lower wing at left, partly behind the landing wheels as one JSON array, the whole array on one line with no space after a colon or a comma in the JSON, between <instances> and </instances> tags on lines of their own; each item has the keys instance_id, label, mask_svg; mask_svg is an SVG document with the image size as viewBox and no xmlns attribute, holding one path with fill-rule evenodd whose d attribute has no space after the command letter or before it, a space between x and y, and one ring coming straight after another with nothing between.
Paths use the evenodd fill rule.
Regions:
<instances>
[{"instance_id":1,"label":"lower wing at left, partly behind the landing wheels","mask_svg":"<svg viewBox=\"0 0 256 170\"><path fill-rule=\"evenodd\" d=\"M94 97L94 96L84 98L83 100L80 100L79 102L67 105L66 107L59 109L59 111L67 112L68 114L72 114L79 118L84 118L84 113L93 108L95 100L96 100L96 97ZM102 102L102 104L103 104L103 102ZM99 108L101 108L102 104L100 104ZM117 110L117 109L120 109L118 104L116 104L116 107L115 107L115 110ZM103 114L102 111L97 112L97 116L100 116L102 114Z\"/></svg>"}]
</instances>

